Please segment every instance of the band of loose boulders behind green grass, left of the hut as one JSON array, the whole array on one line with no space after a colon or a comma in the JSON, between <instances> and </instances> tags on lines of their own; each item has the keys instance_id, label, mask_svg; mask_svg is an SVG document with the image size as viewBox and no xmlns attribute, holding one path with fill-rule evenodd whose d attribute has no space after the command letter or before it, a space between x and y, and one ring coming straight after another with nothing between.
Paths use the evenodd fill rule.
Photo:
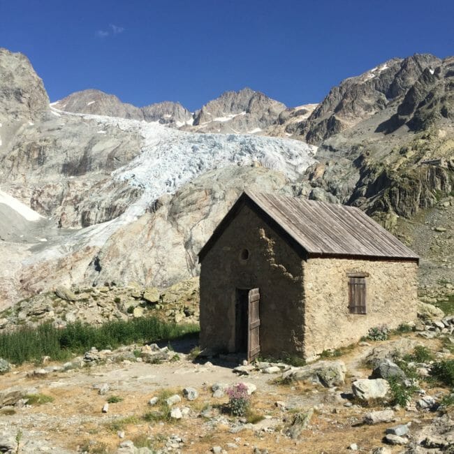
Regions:
<instances>
[{"instance_id":1,"label":"band of loose boulders behind green grass, left of the hut","mask_svg":"<svg viewBox=\"0 0 454 454\"><path fill-rule=\"evenodd\" d=\"M101 325L142 316L198 323L198 303L197 277L161 289L143 287L136 282L129 286L117 286L115 282L88 288L59 286L55 291L27 298L0 312L0 330L45 322L59 327L75 321Z\"/></svg>"}]
</instances>

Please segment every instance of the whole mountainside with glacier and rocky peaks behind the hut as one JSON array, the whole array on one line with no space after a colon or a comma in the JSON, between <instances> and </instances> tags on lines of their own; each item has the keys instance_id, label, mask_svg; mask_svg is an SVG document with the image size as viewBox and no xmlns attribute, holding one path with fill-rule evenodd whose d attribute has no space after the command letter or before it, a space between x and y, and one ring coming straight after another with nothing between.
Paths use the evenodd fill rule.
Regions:
<instances>
[{"instance_id":1,"label":"whole mountainside with glacier and rocky peaks behind the hut","mask_svg":"<svg viewBox=\"0 0 454 454\"><path fill-rule=\"evenodd\" d=\"M0 91L0 189L50 218L41 230L26 222L22 238L3 235L7 304L59 284L168 286L195 276L198 249L248 187L360 207L423 251L424 282L434 285L439 272L451 279L452 237L431 230L451 222L454 206L451 59L392 59L341 82L319 105L285 108L251 89L226 92L197 112L198 124L178 128L172 113L161 124L61 111L28 59L0 57L13 78ZM22 73L10 70L17 65ZM26 95L11 97L8 87ZM387 100L387 91L397 96ZM115 99L106 108L115 110ZM332 117L339 131L328 128ZM261 131L236 133L253 126ZM309 133L318 148L305 143ZM411 227L430 209L439 216ZM432 249L415 242L420 235Z\"/></svg>"}]
</instances>

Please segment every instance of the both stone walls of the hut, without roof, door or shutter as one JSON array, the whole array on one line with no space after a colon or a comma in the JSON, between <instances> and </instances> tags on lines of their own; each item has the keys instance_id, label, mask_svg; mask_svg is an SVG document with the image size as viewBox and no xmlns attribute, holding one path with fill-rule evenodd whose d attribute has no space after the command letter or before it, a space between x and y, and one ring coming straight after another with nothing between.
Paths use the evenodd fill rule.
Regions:
<instances>
[{"instance_id":1,"label":"both stone walls of the hut, without roof, door or shutter","mask_svg":"<svg viewBox=\"0 0 454 454\"><path fill-rule=\"evenodd\" d=\"M208 351L244 351L239 291L252 288L260 291L261 356L312 358L374 326L416 318L417 258L315 258L248 203L210 241L200 256L200 345ZM365 314L349 307L352 273L365 279Z\"/></svg>"}]
</instances>

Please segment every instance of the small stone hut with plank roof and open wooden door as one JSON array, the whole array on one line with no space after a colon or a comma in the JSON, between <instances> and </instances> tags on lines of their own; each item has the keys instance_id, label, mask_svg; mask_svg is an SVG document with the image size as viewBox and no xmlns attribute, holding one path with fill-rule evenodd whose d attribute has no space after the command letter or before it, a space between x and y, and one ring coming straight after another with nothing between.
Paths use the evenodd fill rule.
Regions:
<instances>
[{"instance_id":1,"label":"small stone hut with plank roof and open wooden door","mask_svg":"<svg viewBox=\"0 0 454 454\"><path fill-rule=\"evenodd\" d=\"M356 207L247 191L198 258L208 351L312 358L416 318L418 256Z\"/></svg>"}]
</instances>

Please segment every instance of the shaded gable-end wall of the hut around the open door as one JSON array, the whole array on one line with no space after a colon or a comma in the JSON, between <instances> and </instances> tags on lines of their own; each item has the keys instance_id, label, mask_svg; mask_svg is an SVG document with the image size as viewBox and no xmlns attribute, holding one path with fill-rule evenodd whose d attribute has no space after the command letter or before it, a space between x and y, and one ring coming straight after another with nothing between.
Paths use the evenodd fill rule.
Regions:
<instances>
[{"instance_id":1,"label":"shaded gable-end wall of the hut around the open door","mask_svg":"<svg viewBox=\"0 0 454 454\"><path fill-rule=\"evenodd\" d=\"M248 249L249 258L241 253ZM303 288L300 256L247 205L203 258L200 345L235 351L236 288L261 293L261 354L302 355Z\"/></svg>"}]
</instances>

